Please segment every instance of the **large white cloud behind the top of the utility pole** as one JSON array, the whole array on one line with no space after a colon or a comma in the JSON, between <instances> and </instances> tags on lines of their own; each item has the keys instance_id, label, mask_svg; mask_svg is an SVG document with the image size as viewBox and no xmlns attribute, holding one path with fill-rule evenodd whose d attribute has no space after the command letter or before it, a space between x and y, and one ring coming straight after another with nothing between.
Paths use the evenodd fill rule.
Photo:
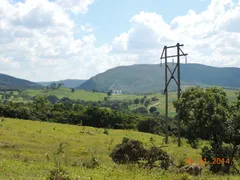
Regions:
<instances>
[{"instance_id":1,"label":"large white cloud behind the top of the utility pole","mask_svg":"<svg viewBox=\"0 0 240 180\"><path fill-rule=\"evenodd\" d=\"M121 49L122 53L146 56L145 63L158 63L164 45L180 42L185 44L188 62L240 67L239 12L240 1L232 0L212 0L205 11L189 10L169 24L161 15L140 12L131 18L131 29L113 40L113 47L125 48L113 48L112 53Z\"/></svg>"}]
</instances>

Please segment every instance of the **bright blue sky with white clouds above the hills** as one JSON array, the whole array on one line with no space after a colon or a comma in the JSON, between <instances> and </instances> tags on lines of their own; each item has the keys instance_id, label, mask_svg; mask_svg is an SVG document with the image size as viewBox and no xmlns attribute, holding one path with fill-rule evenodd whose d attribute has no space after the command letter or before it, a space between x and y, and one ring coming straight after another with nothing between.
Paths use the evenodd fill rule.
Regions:
<instances>
[{"instance_id":1,"label":"bright blue sky with white clouds above the hills","mask_svg":"<svg viewBox=\"0 0 240 180\"><path fill-rule=\"evenodd\" d=\"M188 63L240 68L239 24L240 0L1 0L0 73L88 79L178 42Z\"/></svg>"}]
</instances>

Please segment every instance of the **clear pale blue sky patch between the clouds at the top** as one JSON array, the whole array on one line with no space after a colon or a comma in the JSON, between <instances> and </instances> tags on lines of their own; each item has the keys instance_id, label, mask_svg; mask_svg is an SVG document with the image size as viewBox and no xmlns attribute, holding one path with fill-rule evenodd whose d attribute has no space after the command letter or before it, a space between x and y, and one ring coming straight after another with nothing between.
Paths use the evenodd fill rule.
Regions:
<instances>
[{"instance_id":1,"label":"clear pale blue sky patch between the clouds at the top","mask_svg":"<svg viewBox=\"0 0 240 180\"><path fill-rule=\"evenodd\" d=\"M210 0L95 0L87 14L72 16L78 24L90 23L96 28L96 45L110 42L115 36L130 28L129 20L135 14L156 12L167 23L189 9L197 13L206 9Z\"/></svg>"}]
</instances>

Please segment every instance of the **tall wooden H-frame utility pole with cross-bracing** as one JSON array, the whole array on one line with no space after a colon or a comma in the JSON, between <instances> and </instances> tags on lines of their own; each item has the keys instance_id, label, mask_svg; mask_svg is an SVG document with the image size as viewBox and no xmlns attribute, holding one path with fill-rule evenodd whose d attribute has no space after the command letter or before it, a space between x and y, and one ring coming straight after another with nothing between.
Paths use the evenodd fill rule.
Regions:
<instances>
[{"instance_id":1,"label":"tall wooden H-frame utility pole with cross-bracing","mask_svg":"<svg viewBox=\"0 0 240 180\"><path fill-rule=\"evenodd\" d=\"M184 46L183 44L179 44L177 43L177 45L175 46L164 46L163 48L163 51L162 51L162 55L161 55L161 66L162 66L162 59L165 59L165 89L164 89L164 93L166 95L166 110L165 110L165 125L166 125L166 138L165 138L165 143L168 144L168 86L169 86L169 83L171 82L172 79L174 79L175 83L177 84L178 86L178 92L177 92L177 96L178 96L178 100L180 98L180 95L181 95L181 82L180 82L180 57L181 56L187 56L188 54L185 54L180 47ZM168 56L167 54L167 50L170 49L170 48L177 48L177 55L172 55L172 56ZM182 54L180 54L180 52ZM164 57L163 57L164 55ZM171 69L169 68L168 66L168 63L167 63L167 59L168 58L174 58L174 57L177 57L177 64L175 65L174 67L174 70L171 71ZM186 60L187 62L187 60ZM174 61L173 61L174 63ZM178 70L177 72L177 80L176 78L174 77L174 73L175 71ZM168 79L168 72L170 72L171 76L170 78ZM181 127L180 127L180 109L177 108L177 121L178 121L178 146L181 145Z\"/></svg>"}]
</instances>

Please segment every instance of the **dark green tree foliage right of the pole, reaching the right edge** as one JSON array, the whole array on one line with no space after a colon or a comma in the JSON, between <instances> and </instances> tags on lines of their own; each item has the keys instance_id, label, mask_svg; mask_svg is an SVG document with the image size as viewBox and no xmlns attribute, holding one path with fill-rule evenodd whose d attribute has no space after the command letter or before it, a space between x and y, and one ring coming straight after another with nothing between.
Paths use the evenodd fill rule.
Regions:
<instances>
[{"instance_id":1,"label":"dark green tree foliage right of the pole, reaching the right edge","mask_svg":"<svg viewBox=\"0 0 240 180\"><path fill-rule=\"evenodd\" d=\"M201 152L202 158L210 163L210 171L229 173L240 145L239 95L229 105L223 89L189 88L179 101L174 102L174 106L180 109L182 134L192 146L196 148L200 139L210 141L211 147L204 147ZM225 147L224 143L229 146ZM222 160L226 157L229 160L227 164L211 164L213 158Z\"/></svg>"}]
</instances>

